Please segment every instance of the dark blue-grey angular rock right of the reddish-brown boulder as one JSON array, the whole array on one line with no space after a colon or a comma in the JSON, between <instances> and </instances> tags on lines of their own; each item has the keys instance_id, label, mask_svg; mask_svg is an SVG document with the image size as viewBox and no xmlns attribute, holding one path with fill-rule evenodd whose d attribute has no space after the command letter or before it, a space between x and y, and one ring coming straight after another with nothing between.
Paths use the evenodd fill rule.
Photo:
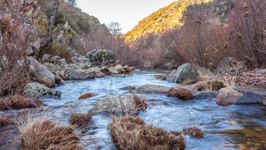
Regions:
<instances>
[{"instance_id":1,"label":"dark blue-grey angular rock right of the reddish-brown boulder","mask_svg":"<svg viewBox=\"0 0 266 150\"><path fill-rule=\"evenodd\" d=\"M244 105L244 104L263 104L261 95L252 92L245 93L236 101L235 105Z\"/></svg>"}]
</instances>

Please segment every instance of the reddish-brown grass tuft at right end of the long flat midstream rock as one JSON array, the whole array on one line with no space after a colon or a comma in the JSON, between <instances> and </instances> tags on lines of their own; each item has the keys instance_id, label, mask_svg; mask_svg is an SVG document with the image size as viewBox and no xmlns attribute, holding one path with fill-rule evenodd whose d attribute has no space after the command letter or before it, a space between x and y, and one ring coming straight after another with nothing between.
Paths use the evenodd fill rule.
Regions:
<instances>
[{"instance_id":1,"label":"reddish-brown grass tuft at right end of the long flat midstream rock","mask_svg":"<svg viewBox=\"0 0 266 150\"><path fill-rule=\"evenodd\" d=\"M168 97L177 97L181 100L192 100L194 99L193 91L184 87L171 88L167 93Z\"/></svg>"}]
</instances>

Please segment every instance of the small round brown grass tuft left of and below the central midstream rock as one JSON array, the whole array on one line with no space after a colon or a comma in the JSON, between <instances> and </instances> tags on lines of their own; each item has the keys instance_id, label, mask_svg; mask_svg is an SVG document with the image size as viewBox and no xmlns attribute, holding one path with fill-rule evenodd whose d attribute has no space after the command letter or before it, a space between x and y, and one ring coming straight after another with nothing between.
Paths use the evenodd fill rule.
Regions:
<instances>
[{"instance_id":1,"label":"small round brown grass tuft left of and below the central midstream rock","mask_svg":"<svg viewBox=\"0 0 266 150\"><path fill-rule=\"evenodd\" d=\"M91 119L92 119L92 117L89 113L82 114L82 113L73 112L70 114L70 116L68 118L68 122L71 125L75 125L77 127L83 127L88 122L90 122Z\"/></svg>"}]
</instances>

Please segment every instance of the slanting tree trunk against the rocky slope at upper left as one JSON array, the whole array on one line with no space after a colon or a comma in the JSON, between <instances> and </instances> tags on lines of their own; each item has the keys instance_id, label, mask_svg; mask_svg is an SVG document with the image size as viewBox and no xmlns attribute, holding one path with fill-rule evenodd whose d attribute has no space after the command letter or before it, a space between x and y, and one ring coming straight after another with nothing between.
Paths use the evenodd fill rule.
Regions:
<instances>
[{"instance_id":1,"label":"slanting tree trunk against the rocky slope at upper left","mask_svg":"<svg viewBox=\"0 0 266 150\"><path fill-rule=\"evenodd\" d=\"M53 25L54 25L54 22L56 20L56 12L57 12L57 9L58 9L58 5L59 5L59 0L55 0L54 4L53 4L53 12L52 12L50 21L48 23L47 47L45 49L45 52L50 50L50 48L52 46L52 42L53 42Z\"/></svg>"}]
</instances>

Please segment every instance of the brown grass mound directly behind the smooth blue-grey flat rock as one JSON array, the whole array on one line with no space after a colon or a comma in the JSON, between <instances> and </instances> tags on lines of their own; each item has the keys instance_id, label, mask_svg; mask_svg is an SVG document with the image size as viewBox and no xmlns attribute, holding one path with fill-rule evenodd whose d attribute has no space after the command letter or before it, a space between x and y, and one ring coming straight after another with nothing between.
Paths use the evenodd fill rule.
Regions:
<instances>
[{"instance_id":1,"label":"brown grass mound directly behind the smooth blue-grey flat rock","mask_svg":"<svg viewBox=\"0 0 266 150\"><path fill-rule=\"evenodd\" d=\"M197 91L219 91L224 88L224 84L220 80L202 81L196 86Z\"/></svg>"}]
</instances>

